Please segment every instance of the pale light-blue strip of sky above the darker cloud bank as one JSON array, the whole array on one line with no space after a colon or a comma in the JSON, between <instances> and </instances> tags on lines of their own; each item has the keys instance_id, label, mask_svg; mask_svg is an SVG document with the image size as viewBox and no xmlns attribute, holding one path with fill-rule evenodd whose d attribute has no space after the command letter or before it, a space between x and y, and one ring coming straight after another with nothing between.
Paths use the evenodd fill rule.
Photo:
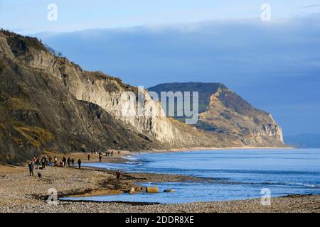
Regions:
<instances>
[{"instance_id":1,"label":"pale light-blue strip of sky above the darker cloud bank","mask_svg":"<svg viewBox=\"0 0 320 227\"><path fill-rule=\"evenodd\" d=\"M58 6L58 21L48 21L48 4ZM319 12L319 0L0 0L0 27L18 33L78 31L157 23L260 18L260 6L272 7L272 19Z\"/></svg>"}]
</instances>

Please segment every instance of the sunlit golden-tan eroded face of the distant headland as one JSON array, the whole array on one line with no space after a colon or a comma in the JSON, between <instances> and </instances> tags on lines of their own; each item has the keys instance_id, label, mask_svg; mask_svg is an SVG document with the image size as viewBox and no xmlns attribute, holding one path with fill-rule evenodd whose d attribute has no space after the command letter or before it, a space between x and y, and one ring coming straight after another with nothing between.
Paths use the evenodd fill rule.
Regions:
<instances>
[{"instance_id":1,"label":"sunlit golden-tan eroded face of the distant headland","mask_svg":"<svg viewBox=\"0 0 320 227\"><path fill-rule=\"evenodd\" d=\"M282 129L271 114L255 109L228 88L210 96L210 104L200 114L201 123L213 131L238 135L244 145L283 145Z\"/></svg>"}]
</instances>

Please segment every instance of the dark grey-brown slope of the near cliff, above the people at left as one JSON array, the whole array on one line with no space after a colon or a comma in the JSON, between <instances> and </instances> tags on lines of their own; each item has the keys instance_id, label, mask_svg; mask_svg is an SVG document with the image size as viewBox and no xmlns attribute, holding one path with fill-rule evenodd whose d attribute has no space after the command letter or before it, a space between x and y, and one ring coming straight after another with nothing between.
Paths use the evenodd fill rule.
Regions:
<instances>
[{"instance_id":1,"label":"dark grey-brown slope of the near cliff, above the people at left","mask_svg":"<svg viewBox=\"0 0 320 227\"><path fill-rule=\"evenodd\" d=\"M43 150L169 148L101 106L76 99L64 83L61 67L85 73L77 65L50 55L42 46L29 46L22 36L0 33L0 38L0 162L20 162Z\"/></svg>"}]
</instances>

